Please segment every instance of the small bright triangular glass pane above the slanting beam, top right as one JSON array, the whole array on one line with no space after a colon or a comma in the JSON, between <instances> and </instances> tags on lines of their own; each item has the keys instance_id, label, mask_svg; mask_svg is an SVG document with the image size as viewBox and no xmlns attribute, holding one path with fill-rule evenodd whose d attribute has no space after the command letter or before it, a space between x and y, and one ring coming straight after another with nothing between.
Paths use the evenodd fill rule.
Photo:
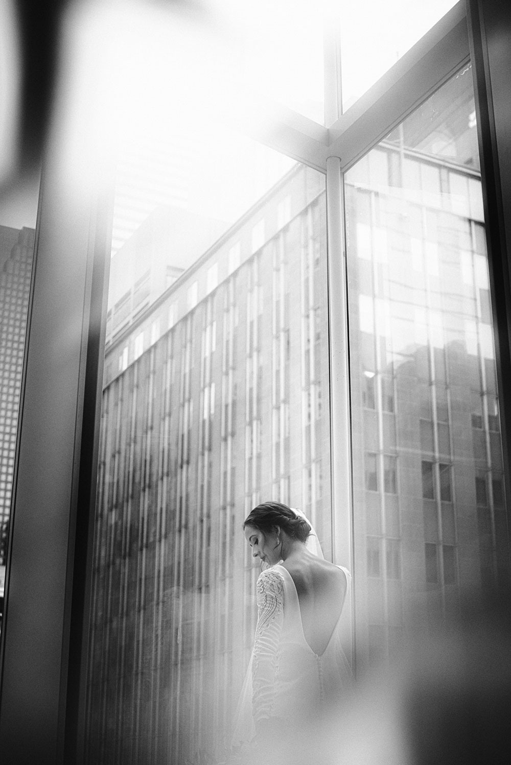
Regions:
<instances>
[{"instance_id":1,"label":"small bright triangular glass pane above the slanting beam, top right","mask_svg":"<svg viewBox=\"0 0 511 765\"><path fill-rule=\"evenodd\" d=\"M343 111L376 83L453 5L456 0L342 3L339 13Z\"/></svg>"}]
</instances>

